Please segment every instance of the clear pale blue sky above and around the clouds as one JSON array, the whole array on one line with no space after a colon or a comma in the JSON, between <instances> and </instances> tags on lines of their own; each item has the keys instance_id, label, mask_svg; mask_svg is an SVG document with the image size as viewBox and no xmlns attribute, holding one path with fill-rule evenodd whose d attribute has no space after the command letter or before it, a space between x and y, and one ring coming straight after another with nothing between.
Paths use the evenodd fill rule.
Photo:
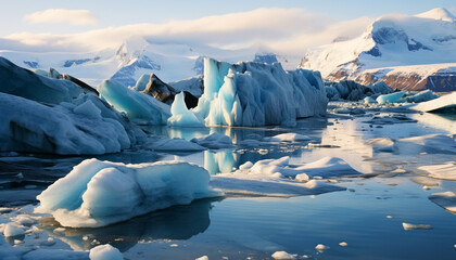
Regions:
<instances>
[{"instance_id":1,"label":"clear pale blue sky above and around the clouds","mask_svg":"<svg viewBox=\"0 0 456 260\"><path fill-rule=\"evenodd\" d=\"M17 0L8 1L7 4L2 4L0 37L22 31L68 34L126 24L161 24L176 20L194 20L210 15L245 12L258 8L273 6L286 9L300 8L309 13L327 15L337 21L345 21L360 16L377 17L387 13L416 14L438 6L446 8L455 13L456 0ZM47 9L88 10L97 18L97 23L73 26L65 23L33 24L24 21L26 14Z\"/></svg>"}]
</instances>

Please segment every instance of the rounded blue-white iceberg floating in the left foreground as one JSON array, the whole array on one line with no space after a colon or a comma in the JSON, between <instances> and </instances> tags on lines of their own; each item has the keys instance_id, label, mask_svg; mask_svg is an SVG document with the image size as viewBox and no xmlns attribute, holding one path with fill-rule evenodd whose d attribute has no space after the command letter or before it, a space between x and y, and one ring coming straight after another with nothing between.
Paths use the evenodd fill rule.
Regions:
<instances>
[{"instance_id":1,"label":"rounded blue-white iceberg floating in the left foreground","mask_svg":"<svg viewBox=\"0 0 456 260\"><path fill-rule=\"evenodd\" d=\"M87 159L37 199L64 226L96 227L217 195L210 174L182 161L124 165Z\"/></svg>"}]
</instances>

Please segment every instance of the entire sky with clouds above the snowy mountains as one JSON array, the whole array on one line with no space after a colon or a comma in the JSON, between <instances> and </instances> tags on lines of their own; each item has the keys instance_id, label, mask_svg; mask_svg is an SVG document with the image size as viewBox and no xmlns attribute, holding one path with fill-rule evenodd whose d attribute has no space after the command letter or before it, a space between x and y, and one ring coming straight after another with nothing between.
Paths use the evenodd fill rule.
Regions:
<instances>
[{"instance_id":1,"label":"entire sky with clouds above the snowy mountains","mask_svg":"<svg viewBox=\"0 0 456 260\"><path fill-rule=\"evenodd\" d=\"M219 48L268 43L301 51L354 37L388 13L417 14L456 0L78 0L2 2L0 50L89 51L123 38Z\"/></svg>"}]
</instances>

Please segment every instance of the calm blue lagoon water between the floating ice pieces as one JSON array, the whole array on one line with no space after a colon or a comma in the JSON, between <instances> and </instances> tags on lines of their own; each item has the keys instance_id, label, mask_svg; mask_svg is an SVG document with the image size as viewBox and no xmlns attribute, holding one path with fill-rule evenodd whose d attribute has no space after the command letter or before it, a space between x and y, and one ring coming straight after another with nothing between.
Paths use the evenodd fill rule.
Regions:
<instances>
[{"instance_id":1,"label":"calm blue lagoon water between the floating ice pieces","mask_svg":"<svg viewBox=\"0 0 456 260\"><path fill-rule=\"evenodd\" d=\"M456 155L435 151L376 153L365 143L381 136L455 133L455 118L410 114L407 116L418 120L417 123L378 127L366 123L372 116L373 113L354 118L330 115L301 120L291 129L148 129L155 134L187 140L216 131L230 135L235 143L252 133L271 136L296 132L311 136L313 143L330 147L309 148L305 142L264 147L237 145L232 150L192 154L126 151L99 157L135 164L177 158L199 164L216 174L231 171L248 160L255 162L288 155L293 162L308 162L335 156L369 173L369 178L335 179L347 191L291 198L203 199L103 229L68 229L61 234L53 232L58 223L45 218L40 229L59 239L53 248L88 250L98 245L92 243L96 239L117 247L126 259L195 259L204 255L210 259L270 259L278 250L311 259L456 259L456 216L428 199L431 193L456 192L456 183L436 180L439 187L423 191L411 181L419 173L417 167L454 161ZM83 159L3 155L0 205L36 203L37 194ZM405 173L391 173L397 169ZM429 224L433 229L404 231L402 222ZM347 246L339 246L341 242ZM330 249L319 252L315 250L317 244Z\"/></svg>"}]
</instances>

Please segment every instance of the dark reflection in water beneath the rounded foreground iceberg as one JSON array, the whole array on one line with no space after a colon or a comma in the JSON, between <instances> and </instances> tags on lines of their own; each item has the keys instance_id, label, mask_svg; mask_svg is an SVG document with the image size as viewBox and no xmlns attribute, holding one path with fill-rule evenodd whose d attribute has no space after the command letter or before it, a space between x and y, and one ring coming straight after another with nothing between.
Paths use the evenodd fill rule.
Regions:
<instances>
[{"instance_id":1,"label":"dark reflection in water beneath the rounded foreground iceberg","mask_svg":"<svg viewBox=\"0 0 456 260\"><path fill-rule=\"evenodd\" d=\"M73 250L89 250L100 244L110 244L126 251L138 243L156 239L189 239L203 233L211 224L210 210L216 199L200 199L191 205L175 206L129 221L99 229L65 229L54 232L60 224L53 218L40 220L45 232L68 244Z\"/></svg>"}]
</instances>

